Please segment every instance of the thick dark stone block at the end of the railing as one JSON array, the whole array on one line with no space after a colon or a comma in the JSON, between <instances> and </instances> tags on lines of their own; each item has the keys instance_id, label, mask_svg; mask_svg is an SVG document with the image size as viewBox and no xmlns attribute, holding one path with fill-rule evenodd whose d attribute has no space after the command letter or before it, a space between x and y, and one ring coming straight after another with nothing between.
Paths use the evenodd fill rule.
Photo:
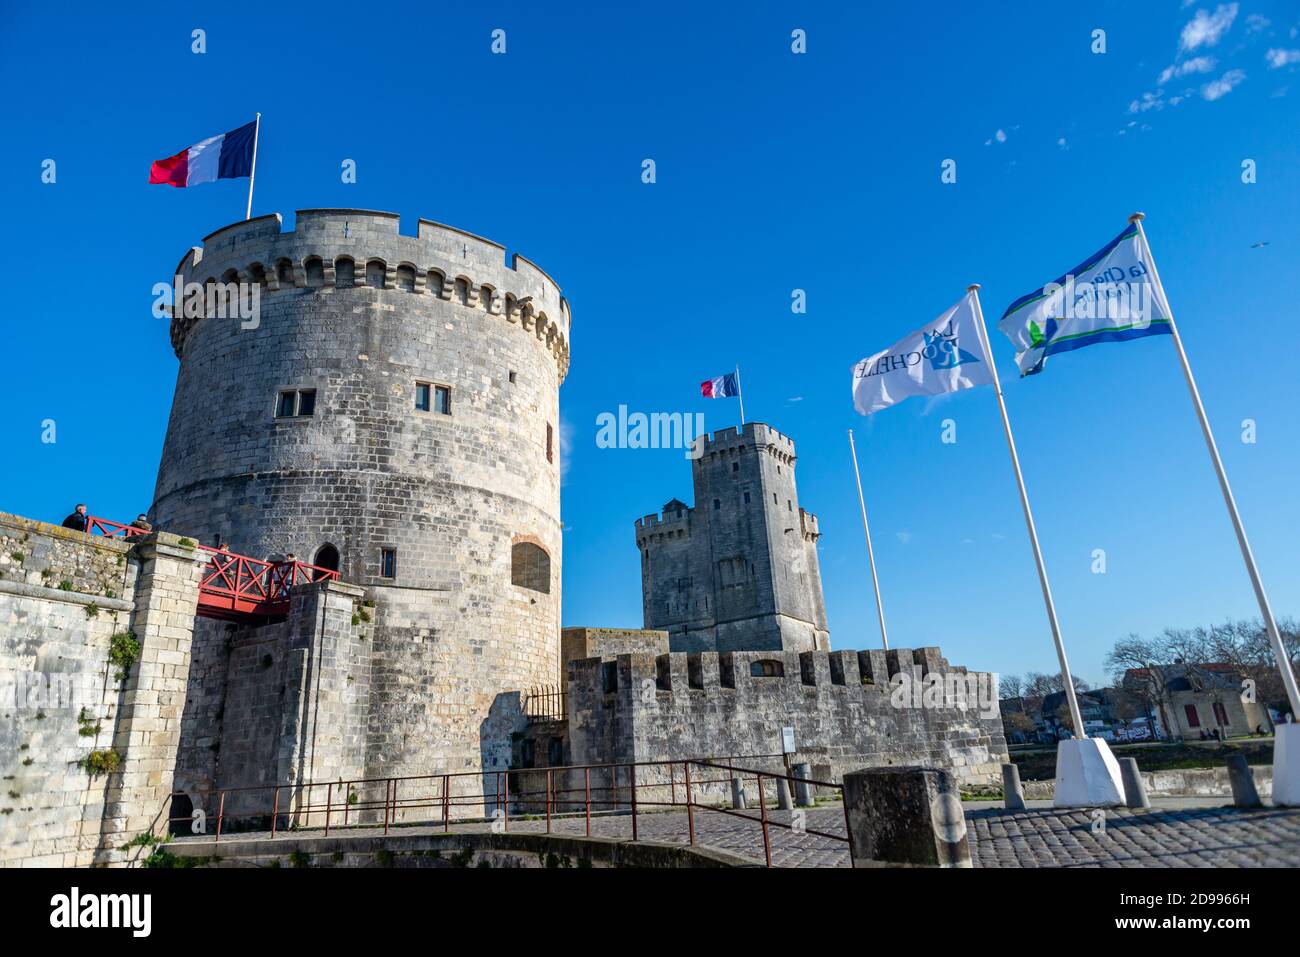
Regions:
<instances>
[{"instance_id":1,"label":"thick dark stone block at the end of the railing","mask_svg":"<svg viewBox=\"0 0 1300 957\"><path fill-rule=\"evenodd\" d=\"M868 767L844 775L854 867L970 867L957 784L933 767Z\"/></svg>"}]
</instances>

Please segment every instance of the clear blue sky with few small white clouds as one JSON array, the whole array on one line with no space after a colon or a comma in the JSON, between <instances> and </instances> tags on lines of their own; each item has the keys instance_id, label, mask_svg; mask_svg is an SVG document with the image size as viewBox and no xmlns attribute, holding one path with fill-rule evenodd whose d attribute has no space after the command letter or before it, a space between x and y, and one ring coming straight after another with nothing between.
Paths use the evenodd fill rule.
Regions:
<instances>
[{"instance_id":1,"label":"clear blue sky with few small white clouds","mask_svg":"<svg viewBox=\"0 0 1300 957\"><path fill-rule=\"evenodd\" d=\"M0 36L5 511L148 506L177 369L151 289L246 194L151 187L148 165L261 111L255 215L387 209L403 231L428 217L564 287L567 624L638 627L632 523L690 501L680 451L597 449L597 416L621 403L734 424L736 403L698 382L740 363L749 417L797 443L833 646L879 641L854 428L892 642L1056 671L992 390L864 420L850 367L971 282L996 322L1134 209L1274 607L1300 612L1292 3L49 9L10 4ZM1170 339L1082 350L1023 381L996 330L993 348L1075 671L1100 681L1128 632L1256 614Z\"/></svg>"}]
</instances>

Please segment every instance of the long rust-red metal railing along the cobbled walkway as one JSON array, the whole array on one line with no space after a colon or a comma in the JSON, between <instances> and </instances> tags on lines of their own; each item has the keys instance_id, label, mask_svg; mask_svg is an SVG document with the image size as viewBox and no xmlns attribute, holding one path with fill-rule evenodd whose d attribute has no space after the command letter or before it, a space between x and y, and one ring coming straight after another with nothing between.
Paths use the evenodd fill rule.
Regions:
<instances>
[{"instance_id":1,"label":"long rust-red metal railing along the cobbled walkway","mask_svg":"<svg viewBox=\"0 0 1300 957\"><path fill-rule=\"evenodd\" d=\"M742 755L749 759L777 758L780 755ZM824 840L842 843L848 846L852 863L853 849L848 839L848 811L845 810L845 831L835 833L807 827L803 818L790 815L783 820L770 813L770 805L777 804L775 789L789 788L793 797L796 788L803 785L822 792L838 794L842 806L844 785L833 781L818 781L794 778L776 771L762 771L740 767L722 761L641 761L616 765L575 765L564 767L511 768L507 771L460 771L454 774L413 775L404 778L367 778L355 780L313 781L303 784L256 784L239 788L222 788L216 792L214 840L222 833L229 839L228 824L244 822L240 830L265 828L272 837L282 836L286 824L294 833L324 827L324 835L342 828L376 828L382 826L384 833L391 827L441 826L450 832L452 824L480 824L485 820L497 822L508 832L511 822L524 819L536 822L541 811L546 815L546 833L576 833L592 836L592 818L615 815L630 817L632 840L640 837L642 819L647 809L656 811L677 810L685 813L686 844L707 846L698 833L698 819L702 814L723 814L758 826L762 837L763 865L772 866L772 831L784 830L796 833L812 835ZM519 787L521 776L536 780L532 789ZM511 779L516 779L515 787ZM476 787L474 780L482 783ZM488 789L488 783L491 789ZM545 781L545 788L541 784ZM723 807L718 804L701 804L705 792L723 793L729 800L733 781L754 794L758 801L757 814L736 807ZM754 783L753 791L746 785ZM465 785L469 787L465 787ZM256 793L264 797L254 797ZM324 796L324 802L320 798ZM172 797L188 796L173 792ZM724 801L725 802L725 801ZM233 810L230 805L243 810ZM469 814L458 814L459 809L474 809ZM803 809L798 809L803 810ZM477 813L481 811L481 813ZM164 811L162 814L169 814ZM162 817L160 814L160 818ZM211 813L204 815L209 819ZM168 817L169 830L179 824L191 824L195 818ZM797 823L798 820L798 823ZM558 824L573 824L559 830ZM207 827L207 824L204 826ZM660 828L662 830L662 828ZM199 831L198 833L205 833ZM664 840L663 833L655 840ZM757 856L757 841L754 853Z\"/></svg>"}]
</instances>

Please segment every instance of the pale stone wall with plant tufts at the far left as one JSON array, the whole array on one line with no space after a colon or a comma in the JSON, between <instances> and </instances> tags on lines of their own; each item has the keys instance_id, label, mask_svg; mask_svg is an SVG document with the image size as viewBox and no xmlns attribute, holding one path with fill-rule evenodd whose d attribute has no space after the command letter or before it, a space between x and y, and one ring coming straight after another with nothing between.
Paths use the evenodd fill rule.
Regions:
<instances>
[{"instance_id":1,"label":"pale stone wall with plant tufts at the far left","mask_svg":"<svg viewBox=\"0 0 1300 957\"><path fill-rule=\"evenodd\" d=\"M0 547L0 863L118 862L162 827L203 558L161 532L127 544L5 514ZM126 633L139 649L118 680Z\"/></svg>"}]
</instances>

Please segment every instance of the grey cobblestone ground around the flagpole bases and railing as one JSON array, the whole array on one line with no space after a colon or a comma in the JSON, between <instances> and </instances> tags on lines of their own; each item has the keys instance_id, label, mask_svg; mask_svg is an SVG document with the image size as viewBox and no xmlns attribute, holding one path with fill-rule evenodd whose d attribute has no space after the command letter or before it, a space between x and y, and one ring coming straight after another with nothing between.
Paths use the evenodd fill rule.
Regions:
<instances>
[{"instance_id":1,"label":"grey cobblestone ground around the flagpole bases and railing","mask_svg":"<svg viewBox=\"0 0 1300 957\"><path fill-rule=\"evenodd\" d=\"M696 809L696 843L763 863L763 830L758 810L748 817ZM790 811L767 811L772 865L777 867L848 867L844 810L838 804L806 811L806 831L793 832ZM967 833L976 867L1297 867L1300 866L1300 809L1153 807L1110 809L1096 826L1093 811L1050 807L1008 811L967 809ZM481 831L486 826L452 824L452 831ZM422 828L416 828L422 830ZM441 827L432 827L441 831ZM516 819L511 831L545 831L545 819ZM585 819L551 822L558 833L581 835ZM823 833L816 833L816 832ZM373 831L354 831L373 833ZM592 833L632 839L628 814L594 815ZM637 837L685 844L689 823L682 811L642 813ZM827 836L829 835L829 836ZM240 835L254 837L255 835ZM299 835L300 837L303 835ZM836 839L841 840L836 840Z\"/></svg>"}]
</instances>

